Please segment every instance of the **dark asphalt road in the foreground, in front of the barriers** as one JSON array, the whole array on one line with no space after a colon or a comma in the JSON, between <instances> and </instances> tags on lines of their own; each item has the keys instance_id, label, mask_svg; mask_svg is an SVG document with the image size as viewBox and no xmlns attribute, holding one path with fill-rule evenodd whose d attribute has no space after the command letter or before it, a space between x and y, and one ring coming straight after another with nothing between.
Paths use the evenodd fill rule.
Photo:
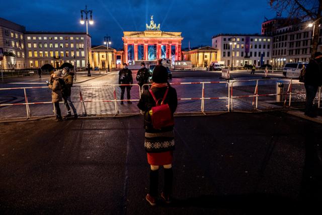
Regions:
<instances>
[{"instance_id":1,"label":"dark asphalt road in the foreground, in front of the barriers","mask_svg":"<svg viewBox=\"0 0 322 215\"><path fill-rule=\"evenodd\" d=\"M1 123L0 213L319 214L309 208L322 200L321 124L280 112L176 117L175 201L151 207L142 123Z\"/></svg>"}]
</instances>

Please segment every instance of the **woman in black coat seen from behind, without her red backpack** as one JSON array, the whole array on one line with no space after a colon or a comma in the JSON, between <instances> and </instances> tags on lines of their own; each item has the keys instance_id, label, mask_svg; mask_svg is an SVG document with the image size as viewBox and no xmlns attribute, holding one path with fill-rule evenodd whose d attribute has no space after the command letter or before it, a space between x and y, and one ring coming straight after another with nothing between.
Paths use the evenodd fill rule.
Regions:
<instances>
[{"instance_id":1,"label":"woman in black coat seen from behind, without her red backpack","mask_svg":"<svg viewBox=\"0 0 322 215\"><path fill-rule=\"evenodd\" d=\"M169 89L164 103L169 104L170 110L173 114L177 109L178 98L176 89L172 88L168 83L167 68L163 65L156 65L153 69L152 81L151 91L157 100L162 99L167 89ZM151 205L156 204L159 166L164 167L165 173L165 184L161 197L166 203L171 202L173 183L172 159L173 150L175 148L173 126L157 130L153 128L150 110L155 105L155 101L150 92L148 90L144 90L137 106L140 110L144 111L144 148L147 152L147 162L151 169L149 192L146 194L145 199Z\"/></svg>"}]
</instances>

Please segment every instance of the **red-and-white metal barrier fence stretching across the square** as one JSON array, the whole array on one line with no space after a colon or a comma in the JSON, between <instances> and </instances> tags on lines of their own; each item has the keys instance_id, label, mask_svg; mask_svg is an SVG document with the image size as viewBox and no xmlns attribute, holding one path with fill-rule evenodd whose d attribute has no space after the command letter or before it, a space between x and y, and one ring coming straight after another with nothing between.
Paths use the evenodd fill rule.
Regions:
<instances>
[{"instance_id":1,"label":"red-and-white metal barrier fence stretching across the square","mask_svg":"<svg viewBox=\"0 0 322 215\"><path fill-rule=\"evenodd\" d=\"M284 105L287 104L291 106L292 97L296 95L305 94L305 92L294 92L293 91L293 80L288 80L288 88L285 93L260 93L259 90L262 88L267 88L270 85L260 85L261 83L272 82L284 82L285 79L258 79L258 80L228 80L222 82L187 82L187 83L171 83L171 85L176 86L178 93L178 109L176 113L207 113L213 111L224 111L229 112L235 109L258 109L259 104L267 103L268 99L272 96L284 96ZM269 84L269 83L268 83ZM87 115L101 115L101 114L112 114L112 115L122 115L122 114L139 114L140 110L136 105L121 105L119 102L138 102L141 93L145 86L141 88L137 84L132 85L81 85L74 86L72 88L72 100L77 104L77 112L81 111L83 116ZM224 88L227 88L226 90ZM254 93L247 93L245 91L238 90L238 87L247 86L248 89L253 89ZM300 87L303 85L301 84ZM120 94L120 87L131 87L137 88L134 90L134 95L132 94L132 99L119 99L117 95ZM45 90L46 89L46 90ZM243 89L244 90L244 89ZM271 90L271 89L270 89ZM17 91L15 94L20 95L21 101L18 103L7 103L0 104L0 114L1 119L8 118L30 118L34 116L52 116L55 114L54 106L49 100L51 98L51 91L48 87L21 87L21 88L2 88L0 89L0 95L8 95L2 93L3 91ZM18 92L19 91L19 92ZM31 97L28 95L27 91L32 91L35 96ZM76 92L77 91L77 92ZM132 91L133 92L133 91ZM237 95L239 94L241 95ZM241 92L241 93L240 93ZM216 95L219 94L219 95ZM77 95L78 94L78 95ZM125 92L126 94L126 92ZM216 96L214 96L216 95ZM320 107L320 95L321 88L318 89L317 105ZM19 96L18 96L19 97ZM250 98L252 101L243 101L245 98ZM259 99L261 98L261 100ZM30 101L35 100L35 101ZM42 100L42 101L41 101ZM48 101L49 100L49 101ZM200 102L200 105L197 103ZM262 103L261 103L262 102ZM62 103L62 102L61 102ZM50 105L53 108L34 108L31 111L31 107L36 105ZM93 105L94 104L94 105ZM244 104L244 106L243 106ZM15 114L7 115L3 114L3 107L17 107L17 109L8 109L7 111L14 112L16 114L26 113L25 116ZM23 110L25 106L25 110ZM98 107L99 106L99 107ZM191 108L194 106L194 108ZM251 106L251 108L250 108ZM98 108L97 108L98 107ZM198 108L199 107L199 108ZM243 108L244 107L244 108ZM64 110L64 108L62 109ZM50 114L48 111L53 111ZM64 112L64 111L62 111ZM42 115L39 115L42 114Z\"/></svg>"}]
</instances>

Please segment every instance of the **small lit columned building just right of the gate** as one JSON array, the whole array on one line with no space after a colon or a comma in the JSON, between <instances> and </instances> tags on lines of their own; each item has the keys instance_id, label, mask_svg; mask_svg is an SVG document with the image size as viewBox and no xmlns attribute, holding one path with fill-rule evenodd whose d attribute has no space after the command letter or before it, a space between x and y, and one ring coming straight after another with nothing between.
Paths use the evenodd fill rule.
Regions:
<instances>
[{"instance_id":1,"label":"small lit columned building just right of the gate","mask_svg":"<svg viewBox=\"0 0 322 215\"><path fill-rule=\"evenodd\" d=\"M190 60L194 67L207 67L217 60L217 49L205 46L189 51L183 51L184 60Z\"/></svg>"}]
</instances>

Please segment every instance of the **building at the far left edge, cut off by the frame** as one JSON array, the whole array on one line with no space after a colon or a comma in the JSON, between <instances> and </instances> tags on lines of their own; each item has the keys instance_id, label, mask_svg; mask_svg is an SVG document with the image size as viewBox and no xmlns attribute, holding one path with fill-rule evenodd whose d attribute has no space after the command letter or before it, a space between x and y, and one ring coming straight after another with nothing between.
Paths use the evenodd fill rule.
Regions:
<instances>
[{"instance_id":1,"label":"building at the far left edge, cut off by the frame","mask_svg":"<svg viewBox=\"0 0 322 215\"><path fill-rule=\"evenodd\" d=\"M0 49L4 52L0 69L26 68L25 31L24 26L0 18Z\"/></svg>"}]
</instances>

